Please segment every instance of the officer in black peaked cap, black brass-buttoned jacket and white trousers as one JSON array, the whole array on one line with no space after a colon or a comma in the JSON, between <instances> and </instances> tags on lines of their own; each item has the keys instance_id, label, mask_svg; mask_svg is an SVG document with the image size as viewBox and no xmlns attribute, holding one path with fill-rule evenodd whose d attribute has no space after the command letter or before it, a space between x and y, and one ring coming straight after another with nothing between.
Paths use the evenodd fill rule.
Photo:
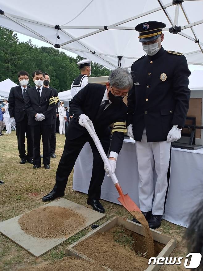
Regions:
<instances>
[{"instance_id":1,"label":"officer in black peaked cap, black brass-buttoned jacket and white trousers","mask_svg":"<svg viewBox=\"0 0 203 271\"><path fill-rule=\"evenodd\" d=\"M181 137L190 99L190 71L186 58L182 53L165 51L161 45L165 26L155 21L136 26L147 55L131 67L134 84L128 96L127 130L136 140L139 205L149 227L154 229L160 227L164 214L171 142Z\"/></svg>"}]
</instances>

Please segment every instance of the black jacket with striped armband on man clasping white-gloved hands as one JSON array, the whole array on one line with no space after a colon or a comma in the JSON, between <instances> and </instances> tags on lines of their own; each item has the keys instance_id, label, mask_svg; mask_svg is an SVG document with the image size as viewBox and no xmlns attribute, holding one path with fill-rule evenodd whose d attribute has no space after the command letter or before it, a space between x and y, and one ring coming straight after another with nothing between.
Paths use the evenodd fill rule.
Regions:
<instances>
[{"instance_id":1,"label":"black jacket with striped armband on man clasping white-gloved hands","mask_svg":"<svg viewBox=\"0 0 203 271\"><path fill-rule=\"evenodd\" d=\"M53 108L55 106L55 98L51 88L43 87L40 102L37 96L36 87L27 89L24 96L25 108L28 115L28 125L39 125L39 121L35 121L35 115L42 113L45 116L43 121L44 125L51 125L53 119Z\"/></svg>"}]
</instances>

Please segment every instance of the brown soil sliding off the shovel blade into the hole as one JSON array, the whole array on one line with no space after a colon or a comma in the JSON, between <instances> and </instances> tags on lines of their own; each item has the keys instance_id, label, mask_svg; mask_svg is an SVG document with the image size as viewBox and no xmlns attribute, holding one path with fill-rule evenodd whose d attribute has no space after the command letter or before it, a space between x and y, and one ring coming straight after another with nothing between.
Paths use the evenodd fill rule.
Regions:
<instances>
[{"instance_id":1,"label":"brown soil sliding off the shovel blade into the hole","mask_svg":"<svg viewBox=\"0 0 203 271\"><path fill-rule=\"evenodd\" d=\"M144 239L147 248L147 258L149 259L154 256L154 240L152 238L148 222L142 213L138 211L132 211L130 213L142 224L144 228Z\"/></svg>"}]
</instances>

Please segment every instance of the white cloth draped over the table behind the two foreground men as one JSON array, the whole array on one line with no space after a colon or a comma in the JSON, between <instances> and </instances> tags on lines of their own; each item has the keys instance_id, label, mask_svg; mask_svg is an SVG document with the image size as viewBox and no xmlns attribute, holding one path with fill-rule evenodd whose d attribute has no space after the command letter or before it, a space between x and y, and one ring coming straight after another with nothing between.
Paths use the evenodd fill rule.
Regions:
<instances>
[{"instance_id":1,"label":"white cloth draped over the table behind the two foreground men","mask_svg":"<svg viewBox=\"0 0 203 271\"><path fill-rule=\"evenodd\" d=\"M93 155L89 143L81 150L75 163L73 189L88 193L92 174ZM147 167L147 165L146 165ZM139 206L138 167L135 152L135 141L124 140L118 155L115 174L124 193ZM156 181L156 177L155 180ZM188 216L203 196L203 148L184 150L172 148L171 176L164 219L187 227ZM101 198L120 204L113 182L105 175L102 184ZM108 210L106 210L108 212Z\"/></svg>"}]
</instances>

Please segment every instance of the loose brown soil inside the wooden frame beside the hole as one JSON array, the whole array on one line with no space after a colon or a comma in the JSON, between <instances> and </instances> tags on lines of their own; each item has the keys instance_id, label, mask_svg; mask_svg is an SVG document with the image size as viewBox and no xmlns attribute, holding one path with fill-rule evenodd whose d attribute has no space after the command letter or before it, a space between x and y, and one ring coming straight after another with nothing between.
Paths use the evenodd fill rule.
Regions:
<instances>
[{"instance_id":1,"label":"loose brown soil inside the wooden frame beside the hole","mask_svg":"<svg viewBox=\"0 0 203 271\"><path fill-rule=\"evenodd\" d=\"M143 271L148 267L148 259L138 256L130 247L122 246L114 240L115 228L97 233L74 247L78 252L114 271Z\"/></svg>"}]
</instances>

